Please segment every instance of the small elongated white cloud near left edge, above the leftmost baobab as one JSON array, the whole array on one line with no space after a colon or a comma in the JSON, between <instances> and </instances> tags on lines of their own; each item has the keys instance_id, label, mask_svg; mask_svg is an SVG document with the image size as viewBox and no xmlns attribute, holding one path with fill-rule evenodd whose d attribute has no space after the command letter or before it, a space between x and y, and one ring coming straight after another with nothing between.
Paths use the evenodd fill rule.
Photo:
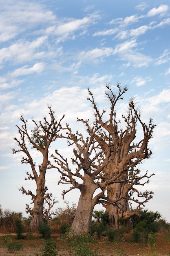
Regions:
<instances>
[{"instance_id":1,"label":"small elongated white cloud near left edge, above the leftmost baobab","mask_svg":"<svg viewBox=\"0 0 170 256\"><path fill-rule=\"evenodd\" d=\"M41 73L44 70L43 63L35 63L33 67L24 66L11 72L11 76L25 76L32 73Z\"/></svg>"}]
</instances>

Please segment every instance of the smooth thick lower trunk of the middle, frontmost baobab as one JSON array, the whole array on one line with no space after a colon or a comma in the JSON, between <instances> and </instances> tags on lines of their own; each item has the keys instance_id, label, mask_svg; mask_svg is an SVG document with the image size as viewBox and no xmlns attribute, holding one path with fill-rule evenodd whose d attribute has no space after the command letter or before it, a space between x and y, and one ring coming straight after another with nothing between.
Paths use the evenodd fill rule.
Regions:
<instances>
[{"instance_id":1,"label":"smooth thick lower trunk of the middle, frontmost baobab","mask_svg":"<svg viewBox=\"0 0 170 256\"><path fill-rule=\"evenodd\" d=\"M81 190L75 219L71 226L73 233L76 235L90 232L92 213L95 207L95 201L92 199L95 185L92 184L91 188L88 186L88 189L86 189L86 186L82 186L83 189Z\"/></svg>"}]
</instances>

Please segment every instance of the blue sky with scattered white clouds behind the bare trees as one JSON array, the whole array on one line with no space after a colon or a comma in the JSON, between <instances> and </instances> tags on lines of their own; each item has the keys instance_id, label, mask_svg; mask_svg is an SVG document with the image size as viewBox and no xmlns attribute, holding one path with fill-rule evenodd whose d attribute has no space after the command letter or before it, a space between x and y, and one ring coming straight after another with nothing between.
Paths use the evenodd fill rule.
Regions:
<instances>
[{"instance_id":1,"label":"blue sky with scattered white clouds behind the bare trees","mask_svg":"<svg viewBox=\"0 0 170 256\"><path fill-rule=\"evenodd\" d=\"M98 106L107 108L105 83L116 91L116 83L128 86L117 108L125 113L134 97L142 121L150 117L157 126L150 140L151 159L141 166L155 173L144 190L154 191L146 209L159 211L170 222L170 2L169 0L0 0L0 205L22 211L31 197L21 186L35 191L24 180L29 166L13 137L18 136L20 115L29 120L48 117L48 105L58 119L73 130L82 129L77 117L93 120L86 100L91 88ZM71 148L60 141L51 146L68 157ZM38 163L40 156L32 152ZM64 207L60 175L46 174L49 192ZM78 203L79 191L65 200ZM102 206L99 206L101 209Z\"/></svg>"}]
</instances>

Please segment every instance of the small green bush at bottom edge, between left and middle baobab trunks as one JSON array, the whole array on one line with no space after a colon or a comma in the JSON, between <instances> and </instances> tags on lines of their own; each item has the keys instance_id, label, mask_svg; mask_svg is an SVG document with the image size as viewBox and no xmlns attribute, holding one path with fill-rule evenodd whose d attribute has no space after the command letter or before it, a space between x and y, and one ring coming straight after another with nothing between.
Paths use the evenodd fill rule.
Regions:
<instances>
[{"instance_id":1,"label":"small green bush at bottom edge, between left and middle baobab trunks","mask_svg":"<svg viewBox=\"0 0 170 256\"><path fill-rule=\"evenodd\" d=\"M55 239L47 239L44 243L44 248L41 249L42 256L56 256L58 255L59 247L56 245Z\"/></svg>"}]
</instances>

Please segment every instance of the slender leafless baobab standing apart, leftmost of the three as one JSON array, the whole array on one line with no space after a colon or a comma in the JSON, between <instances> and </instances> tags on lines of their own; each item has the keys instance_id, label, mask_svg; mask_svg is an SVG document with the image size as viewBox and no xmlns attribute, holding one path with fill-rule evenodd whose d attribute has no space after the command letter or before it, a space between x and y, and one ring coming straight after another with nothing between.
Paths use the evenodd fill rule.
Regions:
<instances>
[{"instance_id":1,"label":"slender leafless baobab standing apart, leftmost of the three","mask_svg":"<svg viewBox=\"0 0 170 256\"><path fill-rule=\"evenodd\" d=\"M31 172L26 172L27 177L25 180L33 180L36 183L36 193L31 190L26 191L24 187L20 189L22 194L31 195L33 209L26 205L26 209L31 213L31 230L35 230L39 223L43 221L43 206L44 198L48 198L49 194L46 194L47 187L45 186L45 176L46 170L51 168L49 161L49 147L53 141L57 139L60 135L60 130L62 129L61 121L62 118L57 121L55 117L55 112L49 108L49 120L44 117L43 121L35 121L32 119L34 130L29 132L27 128L27 120L21 115L20 120L22 126L18 128L18 133L20 138L14 138L19 149L12 149L13 153L24 153L21 159L22 164L29 164L31 166ZM31 147L31 148L30 148ZM32 150L38 150L42 154L42 162L38 165L33 161L31 156ZM33 152L32 152L33 153ZM33 155L33 154L32 154Z\"/></svg>"}]
</instances>

